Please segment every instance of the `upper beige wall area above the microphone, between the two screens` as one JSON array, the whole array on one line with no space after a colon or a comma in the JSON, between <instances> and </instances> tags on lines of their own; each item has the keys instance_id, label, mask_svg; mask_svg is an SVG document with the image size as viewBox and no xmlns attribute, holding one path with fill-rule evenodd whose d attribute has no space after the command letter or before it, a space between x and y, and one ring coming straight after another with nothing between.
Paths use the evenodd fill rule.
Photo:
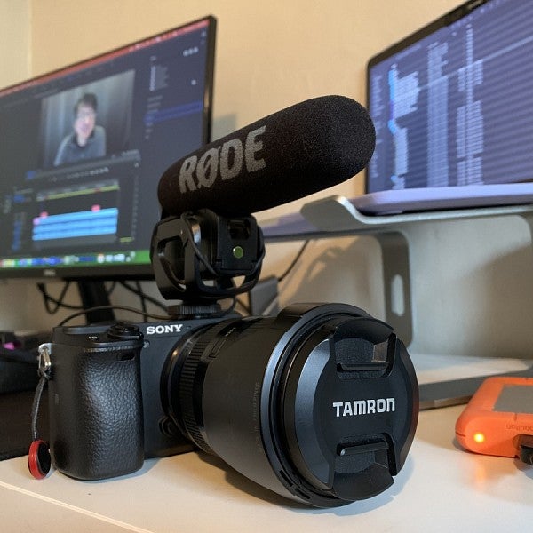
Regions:
<instances>
[{"instance_id":1,"label":"upper beige wall area above the microphone, between the two screens","mask_svg":"<svg viewBox=\"0 0 533 533\"><path fill-rule=\"evenodd\" d=\"M319 94L364 97L364 63L455 0L35 0L35 74L212 13L215 134ZM406 9L409 5L409 9Z\"/></svg>"}]
</instances>

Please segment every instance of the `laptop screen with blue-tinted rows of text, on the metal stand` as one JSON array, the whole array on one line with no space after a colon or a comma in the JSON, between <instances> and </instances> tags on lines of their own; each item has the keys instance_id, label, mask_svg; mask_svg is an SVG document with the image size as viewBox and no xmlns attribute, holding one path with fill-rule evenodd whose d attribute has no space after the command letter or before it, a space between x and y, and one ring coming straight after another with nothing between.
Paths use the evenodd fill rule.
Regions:
<instances>
[{"instance_id":1,"label":"laptop screen with blue-tinted rows of text, on the metal stand","mask_svg":"<svg viewBox=\"0 0 533 533\"><path fill-rule=\"evenodd\" d=\"M533 178L533 2L465 5L370 60L368 192Z\"/></svg>"}]
</instances>

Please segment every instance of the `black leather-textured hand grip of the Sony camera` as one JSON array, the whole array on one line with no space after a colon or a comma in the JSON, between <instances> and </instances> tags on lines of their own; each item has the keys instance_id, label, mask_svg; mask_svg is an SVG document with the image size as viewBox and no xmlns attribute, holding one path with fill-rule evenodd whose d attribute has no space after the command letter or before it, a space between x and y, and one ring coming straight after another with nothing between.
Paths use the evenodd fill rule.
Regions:
<instances>
[{"instance_id":1,"label":"black leather-textured hand grip of the Sony camera","mask_svg":"<svg viewBox=\"0 0 533 533\"><path fill-rule=\"evenodd\" d=\"M78 350L52 351L52 462L87 481L135 472L144 459L140 348Z\"/></svg>"}]
</instances>

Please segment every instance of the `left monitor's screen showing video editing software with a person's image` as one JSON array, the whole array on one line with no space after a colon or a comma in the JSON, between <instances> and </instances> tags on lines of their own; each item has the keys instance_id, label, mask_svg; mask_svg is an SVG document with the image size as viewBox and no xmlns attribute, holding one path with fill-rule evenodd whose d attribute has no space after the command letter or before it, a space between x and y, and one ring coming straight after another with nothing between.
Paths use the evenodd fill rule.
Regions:
<instances>
[{"instance_id":1,"label":"left monitor's screen showing video editing software with a person's image","mask_svg":"<svg viewBox=\"0 0 533 533\"><path fill-rule=\"evenodd\" d=\"M208 17L0 91L0 275L149 264L159 178L209 140L214 33Z\"/></svg>"}]
</instances>

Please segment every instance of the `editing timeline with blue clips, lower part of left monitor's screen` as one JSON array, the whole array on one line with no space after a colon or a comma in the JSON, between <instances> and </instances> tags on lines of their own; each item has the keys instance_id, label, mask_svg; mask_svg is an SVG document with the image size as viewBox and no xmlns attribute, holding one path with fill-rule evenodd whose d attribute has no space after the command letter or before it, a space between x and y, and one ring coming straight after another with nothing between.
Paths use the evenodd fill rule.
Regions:
<instances>
[{"instance_id":1,"label":"editing timeline with blue clips, lower part of left monitor's screen","mask_svg":"<svg viewBox=\"0 0 533 533\"><path fill-rule=\"evenodd\" d=\"M82 164L33 175L28 187L4 198L4 212L12 218L9 247L19 257L3 259L0 267L141 260L123 247L135 239L138 179L138 153L114 157L98 167ZM129 209L121 211L124 204Z\"/></svg>"}]
</instances>

